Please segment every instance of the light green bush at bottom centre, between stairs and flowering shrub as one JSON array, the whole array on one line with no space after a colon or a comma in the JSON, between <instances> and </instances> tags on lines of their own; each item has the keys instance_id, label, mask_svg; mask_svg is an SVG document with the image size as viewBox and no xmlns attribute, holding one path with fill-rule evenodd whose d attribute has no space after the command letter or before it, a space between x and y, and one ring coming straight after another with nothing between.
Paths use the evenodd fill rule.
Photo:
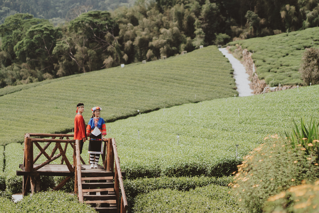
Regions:
<instances>
[{"instance_id":1,"label":"light green bush at bottom centre, between stairs and flowering shrub","mask_svg":"<svg viewBox=\"0 0 319 213\"><path fill-rule=\"evenodd\" d=\"M245 212L236 199L227 194L228 190L215 185L186 192L161 189L137 196L133 209L135 212Z\"/></svg>"}]
</instances>

